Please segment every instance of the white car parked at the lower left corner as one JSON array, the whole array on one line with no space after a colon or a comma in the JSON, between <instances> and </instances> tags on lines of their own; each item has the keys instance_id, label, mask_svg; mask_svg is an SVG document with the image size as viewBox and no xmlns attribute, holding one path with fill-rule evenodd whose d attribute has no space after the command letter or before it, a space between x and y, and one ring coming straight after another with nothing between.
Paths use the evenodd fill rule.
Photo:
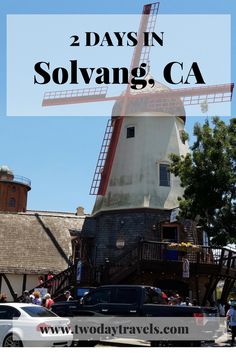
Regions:
<instances>
[{"instance_id":1,"label":"white car parked at the lower left corner","mask_svg":"<svg viewBox=\"0 0 236 353\"><path fill-rule=\"evenodd\" d=\"M0 303L0 347L61 347L72 340L69 319L34 304Z\"/></svg>"}]
</instances>

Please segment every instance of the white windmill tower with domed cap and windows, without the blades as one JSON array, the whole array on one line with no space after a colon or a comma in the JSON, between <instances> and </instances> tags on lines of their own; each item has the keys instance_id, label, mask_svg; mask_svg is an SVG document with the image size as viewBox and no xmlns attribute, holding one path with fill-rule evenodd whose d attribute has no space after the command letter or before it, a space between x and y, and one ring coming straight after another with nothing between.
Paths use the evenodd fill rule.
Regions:
<instances>
[{"instance_id":1,"label":"white windmill tower with domed cap and windows, without the blades","mask_svg":"<svg viewBox=\"0 0 236 353\"><path fill-rule=\"evenodd\" d=\"M127 104L109 182L105 193L98 194L93 214L109 210L170 210L178 207L177 198L183 189L179 178L169 172L169 155L186 155L188 152L187 143L182 138L185 111L180 99L175 100L178 107L164 104L163 100L153 104L149 90L145 88L141 94L130 91L137 98L140 96L140 101L129 100ZM153 89L151 92L154 93ZM169 93L170 90L155 83L155 92ZM113 126L119 119L119 110L118 102L112 112ZM104 166L101 179L110 167L106 163Z\"/></svg>"}]
</instances>

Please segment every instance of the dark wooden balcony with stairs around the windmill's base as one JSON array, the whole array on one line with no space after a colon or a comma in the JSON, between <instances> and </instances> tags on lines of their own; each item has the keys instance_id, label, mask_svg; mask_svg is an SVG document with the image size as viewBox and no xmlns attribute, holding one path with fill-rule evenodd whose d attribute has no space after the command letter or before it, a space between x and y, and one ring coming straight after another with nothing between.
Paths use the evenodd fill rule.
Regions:
<instances>
[{"instance_id":1,"label":"dark wooden balcony with stairs around the windmill's base","mask_svg":"<svg viewBox=\"0 0 236 353\"><path fill-rule=\"evenodd\" d=\"M236 251L216 246L173 247L173 243L143 240L109 264L111 283L119 283L122 273L153 271L182 276L183 259L188 259L191 276L236 278ZM106 269L107 272L107 269Z\"/></svg>"}]
</instances>

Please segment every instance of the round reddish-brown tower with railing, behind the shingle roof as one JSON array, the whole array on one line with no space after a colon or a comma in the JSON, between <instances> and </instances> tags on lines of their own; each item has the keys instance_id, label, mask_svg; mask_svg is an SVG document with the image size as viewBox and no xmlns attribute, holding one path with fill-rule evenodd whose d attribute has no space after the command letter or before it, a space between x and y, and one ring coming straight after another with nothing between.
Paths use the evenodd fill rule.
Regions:
<instances>
[{"instance_id":1,"label":"round reddish-brown tower with railing, behind the shingle roof","mask_svg":"<svg viewBox=\"0 0 236 353\"><path fill-rule=\"evenodd\" d=\"M6 165L0 167L0 211L25 212L27 194L31 181L23 176L14 175Z\"/></svg>"}]
</instances>

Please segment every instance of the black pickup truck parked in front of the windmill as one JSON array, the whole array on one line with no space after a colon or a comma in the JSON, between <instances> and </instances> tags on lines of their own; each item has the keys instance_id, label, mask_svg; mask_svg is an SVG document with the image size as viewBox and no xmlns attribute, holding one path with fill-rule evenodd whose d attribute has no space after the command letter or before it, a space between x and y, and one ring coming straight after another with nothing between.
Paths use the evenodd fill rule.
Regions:
<instances>
[{"instance_id":1,"label":"black pickup truck parked in front of the windmill","mask_svg":"<svg viewBox=\"0 0 236 353\"><path fill-rule=\"evenodd\" d=\"M205 332L204 325L206 321L204 317L207 313L200 306L178 306L164 304L161 290L144 285L106 285L93 290L85 295L80 301L74 302L58 302L52 306L52 310L60 316L111 316L123 318L154 318L155 322L161 322L161 318L179 318L179 322L196 323L196 329L202 329ZM156 319L155 319L156 318ZM159 319L160 318L160 319ZM90 320L88 318L88 320ZM119 324L119 320L117 319ZM136 319L135 319L136 320ZM91 318L92 321L92 318ZM132 319L131 319L132 321ZM136 320L137 321L137 320ZM175 320L176 321L176 320ZM177 322L177 321L176 321ZM202 326L202 328L199 328ZM207 327L208 330L208 327ZM200 331L201 332L201 331ZM209 332L209 336L213 336ZM193 346L201 344L203 335L199 335L199 341L188 343ZM205 336L206 337L206 336ZM152 346L159 345L160 342L151 341ZM180 343L174 342L172 344ZM182 345L184 342L182 342Z\"/></svg>"}]
</instances>

